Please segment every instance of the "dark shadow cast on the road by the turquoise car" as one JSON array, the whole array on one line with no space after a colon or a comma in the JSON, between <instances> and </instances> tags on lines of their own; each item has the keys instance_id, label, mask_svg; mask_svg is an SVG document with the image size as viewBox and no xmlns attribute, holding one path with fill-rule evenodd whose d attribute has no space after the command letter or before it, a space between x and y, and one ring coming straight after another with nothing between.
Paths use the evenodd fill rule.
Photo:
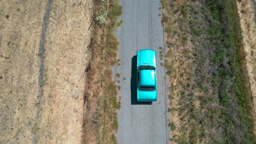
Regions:
<instances>
[{"instance_id":1,"label":"dark shadow cast on the road by the turquoise car","mask_svg":"<svg viewBox=\"0 0 256 144\"><path fill-rule=\"evenodd\" d=\"M131 62L131 105L151 105L152 101L137 101L137 55Z\"/></svg>"}]
</instances>

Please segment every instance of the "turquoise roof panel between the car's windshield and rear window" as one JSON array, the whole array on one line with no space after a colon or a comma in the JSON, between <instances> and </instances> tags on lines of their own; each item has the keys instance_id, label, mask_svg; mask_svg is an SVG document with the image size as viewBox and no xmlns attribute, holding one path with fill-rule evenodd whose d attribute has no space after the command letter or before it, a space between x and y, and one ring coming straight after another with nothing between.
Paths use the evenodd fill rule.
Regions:
<instances>
[{"instance_id":1,"label":"turquoise roof panel between the car's windshield and rear window","mask_svg":"<svg viewBox=\"0 0 256 144\"><path fill-rule=\"evenodd\" d=\"M141 69L139 71L139 85L155 86L155 70Z\"/></svg>"}]
</instances>

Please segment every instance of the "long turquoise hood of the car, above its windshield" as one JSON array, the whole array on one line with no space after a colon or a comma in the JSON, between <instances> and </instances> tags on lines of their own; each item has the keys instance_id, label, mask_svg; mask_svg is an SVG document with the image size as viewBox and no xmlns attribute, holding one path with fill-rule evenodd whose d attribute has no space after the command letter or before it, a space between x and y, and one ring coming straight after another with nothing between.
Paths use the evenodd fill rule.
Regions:
<instances>
[{"instance_id":1,"label":"long turquoise hood of the car, above its windshield","mask_svg":"<svg viewBox=\"0 0 256 144\"><path fill-rule=\"evenodd\" d=\"M141 65L156 66L156 53L153 50L144 49L137 52L138 67Z\"/></svg>"}]
</instances>

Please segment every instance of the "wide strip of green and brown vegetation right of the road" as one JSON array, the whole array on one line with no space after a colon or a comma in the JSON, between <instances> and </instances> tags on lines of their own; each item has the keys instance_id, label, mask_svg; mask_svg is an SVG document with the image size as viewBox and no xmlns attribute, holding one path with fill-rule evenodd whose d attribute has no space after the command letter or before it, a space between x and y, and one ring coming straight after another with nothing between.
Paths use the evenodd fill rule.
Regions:
<instances>
[{"instance_id":1,"label":"wide strip of green and brown vegetation right of the road","mask_svg":"<svg viewBox=\"0 0 256 144\"><path fill-rule=\"evenodd\" d=\"M171 141L255 143L235 1L161 2Z\"/></svg>"}]
</instances>

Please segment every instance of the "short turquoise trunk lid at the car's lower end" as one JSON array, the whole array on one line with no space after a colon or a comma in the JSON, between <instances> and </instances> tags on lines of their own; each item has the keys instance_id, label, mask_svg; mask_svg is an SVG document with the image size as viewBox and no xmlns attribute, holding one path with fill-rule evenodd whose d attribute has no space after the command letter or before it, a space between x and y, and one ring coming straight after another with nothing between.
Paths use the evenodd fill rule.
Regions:
<instances>
[{"instance_id":1,"label":"short turquoise trunk lid at the car's lower end","mask_svg":"<svg viewBox=\"0 0 256 144\"><path fill-rule=\"evenodd\" d=\"M156 101L156 91L139 91L137 89L138 101Z\"/></svg>"}]
</instances>

